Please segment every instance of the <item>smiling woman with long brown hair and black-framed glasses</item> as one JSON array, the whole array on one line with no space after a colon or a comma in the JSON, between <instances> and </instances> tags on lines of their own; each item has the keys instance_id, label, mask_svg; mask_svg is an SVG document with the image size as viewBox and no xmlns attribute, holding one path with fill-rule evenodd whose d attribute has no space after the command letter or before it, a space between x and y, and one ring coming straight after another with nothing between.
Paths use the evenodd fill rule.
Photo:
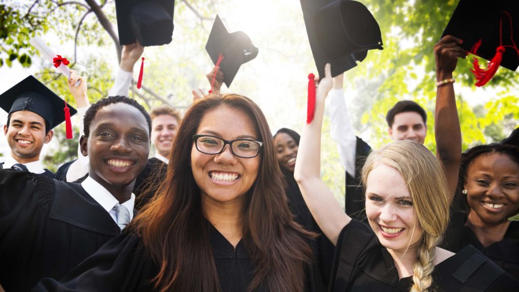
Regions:
<instances>
[{"instance_id":1,"label":"smiling woman with long brown hair and black-framed glasses","mask_svg":"<svg viewBox=\"0 0 519 292\"><path fill-rule=\"evenodd\" d=\"M179 127L165 181L127 232L36 291L323 291L260 108L210 95Z\"/></svg>"}]
</instances>

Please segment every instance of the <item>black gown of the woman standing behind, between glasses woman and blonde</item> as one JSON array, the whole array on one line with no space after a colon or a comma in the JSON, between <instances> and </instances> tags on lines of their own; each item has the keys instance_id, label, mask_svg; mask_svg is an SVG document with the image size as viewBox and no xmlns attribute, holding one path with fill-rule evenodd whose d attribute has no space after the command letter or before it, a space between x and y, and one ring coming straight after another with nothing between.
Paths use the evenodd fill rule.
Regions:
<instances>
[{"instance_id":1,"label":"black gown of the woman standing behind, between glasses woman and blonde","mask_svg":"<svg viewBox=\"0 0 519 292\"><path fill-rule=\"evenodd\" d=\"M311 242L311 245L321 273L321 283L319 283L321 288L318 290L324 291L324 287L327 286L330 281L335 246L328 237L323 234L316 220L313 219L301 194L301 190L299 190L299 185L294 179L294 173L283 170L283 175L287 184L286 196L288 198L288 205L292 214L294 214L294 220L301 224L306 230L319 235L316 241Z\"/></svg>"}]
</instances>

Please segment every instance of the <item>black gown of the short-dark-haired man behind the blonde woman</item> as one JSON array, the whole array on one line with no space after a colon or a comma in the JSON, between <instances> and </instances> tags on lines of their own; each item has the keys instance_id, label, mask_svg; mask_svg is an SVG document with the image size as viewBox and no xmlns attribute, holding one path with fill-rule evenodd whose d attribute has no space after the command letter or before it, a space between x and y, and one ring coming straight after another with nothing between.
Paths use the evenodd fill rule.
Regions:
<instances>
[{"instance_id":1,"label":"black gown of the short-dark-haired man behind the blonde woman","mask_svg":"<svg viewBox=\"0 0 519 292\"><path fill-rule=\"evenodd\" d=\"M366 220L364 188L361 182L362 167L368 155L370 155L371 147L364 140L357 137L357 146L355 153L355 177L353 178L346 171L346 195L345 208L346 214L353 219Z\"/></svg>"}]
</instances>

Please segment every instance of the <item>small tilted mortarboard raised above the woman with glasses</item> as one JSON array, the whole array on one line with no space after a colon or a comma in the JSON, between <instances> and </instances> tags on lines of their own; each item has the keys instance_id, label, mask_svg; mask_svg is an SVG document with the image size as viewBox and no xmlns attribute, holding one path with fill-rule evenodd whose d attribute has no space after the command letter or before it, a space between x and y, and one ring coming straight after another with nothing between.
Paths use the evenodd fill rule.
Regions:
<instances>
[{"instance_id":1,"label":"small tilted mortarboard raised above the woman with glasses","mask_svg":"<svg viewBox=\"0 0 519 292\"><path fill-rule=\"evenodd\" d=\"M223 59L219 66L224 73L224 83L227 87L233 82L241 64L249 62L258 55L258 48L252 44L249 36L242 31L227 32L218 15L209 34L206 51L214 64L222 54Z\"/></svg>"}]
</instances>

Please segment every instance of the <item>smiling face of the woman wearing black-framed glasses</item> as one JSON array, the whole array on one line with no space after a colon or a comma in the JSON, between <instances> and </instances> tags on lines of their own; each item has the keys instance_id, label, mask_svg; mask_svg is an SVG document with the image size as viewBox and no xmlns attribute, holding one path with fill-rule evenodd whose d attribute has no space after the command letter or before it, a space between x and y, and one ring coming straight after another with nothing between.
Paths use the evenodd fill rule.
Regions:
<instances>
[{"instance_id":1,"label":"smiling face of the woman wearing black-framed glasses","mask_svg":"<svg viewBox=\"0 0 519 292\"><path fill-rule=\"evenodd\" d=\"M240 110L221 106L202 117L196 134L212 135L225 140L258 140L251 118ZM218 204L243 203L258 175L260 155L241 158L231 153L230 145L220 154L204 154L191 150L193 177L201 190L202 202Z\"/></svg>"}]
</instances>

